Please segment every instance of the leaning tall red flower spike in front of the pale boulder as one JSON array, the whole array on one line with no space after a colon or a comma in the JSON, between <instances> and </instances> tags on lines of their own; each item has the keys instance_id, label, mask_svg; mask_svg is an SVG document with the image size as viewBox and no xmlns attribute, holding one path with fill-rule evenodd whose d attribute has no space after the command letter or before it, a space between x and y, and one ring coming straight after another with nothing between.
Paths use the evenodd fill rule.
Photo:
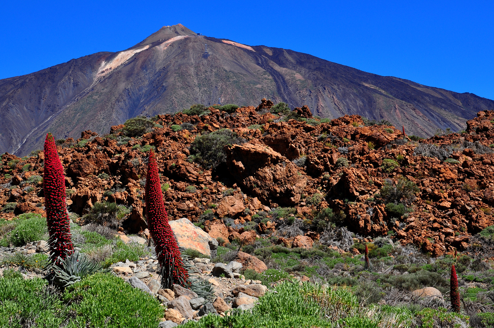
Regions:
<instances>
[{"instance_id":1,"label":"leaning tall red flower spike in front of the pale boulder","mask_svg":"<svg viewBox=\"0 0 494 328\"><path fill-rule=\"evenodd\" d=\"M173 284L188 287L189 274L184 268L177 240L168 223L163 194L161 191L158 164L154 152L149 152L148 174L146 177L146 215L148 228L156 245L156 254L161 266L162 285L171 288Z\"/></svg>"}]
</instances>

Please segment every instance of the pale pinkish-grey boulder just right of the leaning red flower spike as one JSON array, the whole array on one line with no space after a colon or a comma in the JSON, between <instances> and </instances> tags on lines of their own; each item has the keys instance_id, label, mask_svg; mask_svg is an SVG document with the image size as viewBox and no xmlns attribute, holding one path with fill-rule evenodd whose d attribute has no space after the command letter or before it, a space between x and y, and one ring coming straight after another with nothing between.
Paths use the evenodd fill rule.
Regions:
<instances>
[{"instance_id":1,"label":"pale pinkish-grey boulder just right of the leaning red flower spike","mask_svg":"<svg viewBox=\"0 0 494 328\"><path fill-rule=\"evenodd\" d=\"M209 245L218 245L216 239L209 236L206 231L195 226L185 217L175 221L168 221L168 223L180 247L196 249L205 255L211 256L211 247Z\"/></svg>"}]
</instances>

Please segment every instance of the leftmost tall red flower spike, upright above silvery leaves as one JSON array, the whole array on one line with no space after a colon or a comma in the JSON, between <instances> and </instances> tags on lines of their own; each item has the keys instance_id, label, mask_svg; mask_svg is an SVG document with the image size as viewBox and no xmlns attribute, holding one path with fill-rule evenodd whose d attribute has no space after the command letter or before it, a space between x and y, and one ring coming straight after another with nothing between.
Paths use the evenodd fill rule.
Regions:
<instances>
[{"instance_id":1,"label":"leftmost tall red flower spike, upright above silvery leaves","mask_svg":"<svg viewBox=\"0 0 494 328\"><path fill-rule=\"evenodd\" d=\"M65 174L51 133L44 140L44 207L48 226L51 261L58 264L74 246L70 240L69 212L65 206Z\"/></svg>"}]
</instances>

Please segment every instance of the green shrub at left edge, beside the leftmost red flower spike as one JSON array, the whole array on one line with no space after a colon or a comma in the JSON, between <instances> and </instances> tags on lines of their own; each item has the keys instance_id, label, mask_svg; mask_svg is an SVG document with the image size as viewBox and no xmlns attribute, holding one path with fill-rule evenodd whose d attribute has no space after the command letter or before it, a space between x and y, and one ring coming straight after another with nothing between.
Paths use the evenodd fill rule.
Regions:
<instances>
[{"instance_id":1,"label":"green shrub at left edge, beside the leftmost red flower spike","mask_svg":"<svg viewBox=\"0 0 494 328\"><path fill-rule=\"evenodd\" d=\"M29 242L46 240L46 219L41 214L24 213L15 219L15 228L4 236L0 245L12 244L16 247L24 246Z\"/></svg>"}]
</instances>

